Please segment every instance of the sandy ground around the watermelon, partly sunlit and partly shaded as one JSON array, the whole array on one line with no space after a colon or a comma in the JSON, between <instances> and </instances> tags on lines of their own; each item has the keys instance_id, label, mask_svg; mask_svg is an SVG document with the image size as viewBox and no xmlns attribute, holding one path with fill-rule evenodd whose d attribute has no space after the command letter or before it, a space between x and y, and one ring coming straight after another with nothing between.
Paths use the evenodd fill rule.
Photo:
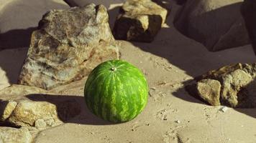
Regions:
<instances>
[{"instance_id":1,"label":"sandy ground around the watermelon, partly sunlit and partly shaded","mask_svg":"<svg viewBox=\"0 0 256 143\"><path fill-rule=\"evenodd\" d=\"M113 7L113 6L112 6ZM76 96L82 113L65 124L40 132L36 143L255 143L256 109L211 107L191 97L184 84L200 74L237 62L255 62L250 45L209 52L202 44L180 34L172 24L179 6L173 5L167 25L150 44L119 41L121 59L138 66L150 85L147 107L137 118L109 124L88 112L83 102L86 78L52 89ZM116 9L110 10L111 19ZM113 21L110 22L113 26ZM17 81L26 49L0 51L0 66L12 83Z\"/></svg>"}]
</instances>

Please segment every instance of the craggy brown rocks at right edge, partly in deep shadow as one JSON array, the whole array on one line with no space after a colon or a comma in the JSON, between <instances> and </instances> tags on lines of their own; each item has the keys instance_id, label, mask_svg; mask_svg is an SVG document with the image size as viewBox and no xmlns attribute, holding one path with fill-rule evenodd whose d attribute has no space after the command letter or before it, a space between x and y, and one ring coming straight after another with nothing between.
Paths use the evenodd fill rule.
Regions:
<instances>
[{"instance_id":1,"label":"craggy brown rocks at right edge, partly in deep shadow","mask_svg":"<svg viewBox=\"0 0 256 143\"><path fill-rule=\"evenodd\" d=\"M187 87L188 92L197 94L196 96L201 97L211 105L218 105L214 104L217 102L217 98L212 92L219 91L219 86L213 86L213 82L202 83L202 81L219 81L221 84L219 102L223 105L241 108L256 107L256 64L224 66L197 77L196 81L196 84Z\"/></svg>"}]
</instances>

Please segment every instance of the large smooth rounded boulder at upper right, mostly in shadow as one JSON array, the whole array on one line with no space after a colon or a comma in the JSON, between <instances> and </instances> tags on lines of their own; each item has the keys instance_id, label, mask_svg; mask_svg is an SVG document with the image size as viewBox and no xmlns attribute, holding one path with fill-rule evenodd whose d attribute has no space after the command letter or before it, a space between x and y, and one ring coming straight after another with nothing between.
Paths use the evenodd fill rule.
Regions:
<instances>
[{"instance_id":1,"label":"large smooth rounded boulder at upper right, mostly in shadow","mask_svg":"<svg viewBox=\"0 0 256 143\"><path fill-rule=\"evenodd\" d=\"M201 42L209 51L250 44L240 6L243 0L192 0L175 16L182 34Z\"/></svg>"}]
</instances>

